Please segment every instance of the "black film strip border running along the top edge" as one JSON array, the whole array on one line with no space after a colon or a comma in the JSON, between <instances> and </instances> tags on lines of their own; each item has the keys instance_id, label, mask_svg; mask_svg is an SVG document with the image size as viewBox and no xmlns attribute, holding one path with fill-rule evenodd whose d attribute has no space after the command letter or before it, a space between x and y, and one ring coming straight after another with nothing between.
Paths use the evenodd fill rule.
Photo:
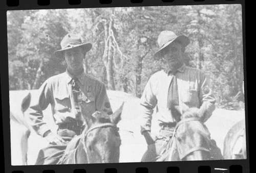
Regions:
<instances>
[{"instance_id":1,"label":"black film strip border running along the top edge","mask_svg":"<svg viewBox=\"0 0 256 173\"><path fill-rule=\"evenodd\" d=\"M186 5L199 5L199 4L240 4L243 3L242 0L127 0L127 1L118 1L118 0L97 0L97 1L85 1L85 0L66 0L61 1L59 4L58 1L54 0L5 0L2 1L2 7L6 6L7 8L61 8L63 6L69 6L69 8L81 8L81 6L139 6L139 5L178 5L178 4L186 4ZM28 6L29 5L29 6Z\"/></svg>"}]
</instances>

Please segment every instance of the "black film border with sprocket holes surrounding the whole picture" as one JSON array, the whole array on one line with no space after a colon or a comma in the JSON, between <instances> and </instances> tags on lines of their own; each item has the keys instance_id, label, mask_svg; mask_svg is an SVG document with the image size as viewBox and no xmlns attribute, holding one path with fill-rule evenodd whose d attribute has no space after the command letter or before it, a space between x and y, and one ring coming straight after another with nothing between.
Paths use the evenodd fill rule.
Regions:
<instances>
[{"instance_id":1,"label":"black film border with sprocket holes surrounding the whole picture","mask_svg":"<svg viewBox=\"0 0 256 173\"><path fill-rule=\"evenodd\" d=\"M250 59L254 58L254 54L249 54L249 36L247 30L245 30L245 26L249 23L254 22L254 17L250 18L248 8L248 1L245 2L242 0L205 0L204 2L194 2L193 0L175 0L173 3L163 3L161 0L143 0L142 3L132 4L130 0L112 0L111 4L100 4L99 0L81 0L80 5L69 5L68 0L51 0L51 4L49 6L38 6L37 0L19 0L19 6L17 7L8 7L6 4L8 0L0 1L0 45L1 45L1 61L0 61L0 96L2 100L0 103L2 105L2 118L0 118L0 122L3 122L3 136L1 136L0 140L5 147L2 147L3 153L1 153L4 158L4 171L3 172L12 172L16 170L22 170L23 172L42 172L43 170L55 170L55 172L73 172L74 169L86 169L86 172L104 172L106 168L116 168L117 172L127 172L133 173L136 172L137 167L147 167L149 172L166 172L166 168L169 166L178 166L180 172L198 172L199 166L211 166L213 167L223 167L229 168L231 165L242 165L243 172L247 173L252 171L253 169L253 161L250 159L249 161L249 150L251 153L251 149L253 147L253 121L251 113L250 117L248 117L248 108L249 105L253 104L249 102L249 97L251 96L251 86L248 85L248 78L251 73L247 73L248 64ZM9 0L10 1L10 0ZM242 5L242 19L243 19L243 56L244 56L244 80L245 80L245 115L246 115L246 135L247 135L247 159L244 160L215 160L215 161L183 161L183 162L154 162L154 163L108 163L108 164L79 164L79 165L33 165L33 166L11 166L11 156L10 156L10 117L9 115L9 79L8 79L8 47L7 47L7 18L6 12L8 10L32 10L32 9L63 9L63 8L103 8L103 7L137 7L137 6L173 6L173 5L209 5L209 4L241 4ZM246 34L247 33L247 34ZM247 35L248 40L245 40L245 35ZM247 39L247 38L246 38ZM247 44L246 44L247 43ZM246 47L248 48L245 48ZM246 55L248 58L246 58ZM252 71L253 73L253 71ZM253 82L253 81L252 81ZM250 92L249 92L250 91ZM250 93L249 95L247 93ZM250 125L249 125L250 119ZM250 129L250 130L249 130ZM250 136L250 138L249 138ZM250 140L249 140L250 139ZM252 154L251 154L252 155ZM249 168L249 163L251 167ZM137 172L136 172L137 173Z\"/></svg>"}]
</instances>

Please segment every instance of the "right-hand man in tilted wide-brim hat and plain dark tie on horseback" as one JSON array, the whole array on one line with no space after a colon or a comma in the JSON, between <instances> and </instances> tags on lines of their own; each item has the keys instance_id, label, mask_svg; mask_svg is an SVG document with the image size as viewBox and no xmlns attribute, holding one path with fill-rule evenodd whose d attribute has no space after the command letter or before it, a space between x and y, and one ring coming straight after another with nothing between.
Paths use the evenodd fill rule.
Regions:
<instances>
[{"instance_id":1,"label":"right-hand man in tilted wide-brim hat and plain dark tie on horseback","mask_svg":"<svg viewBox=\"0 0 256 173\"><path fill-rule=\"evenodd\" d=\"M172 31L162 31L157 41L159 50L154 56L157 59L163 58L167 68L156 72L148 80L140 100L141 134L148 144L142 162L164 160L161 158L166 150L163 146L167 147L166 142L170 141L166 139L172 137L177 122L186 118L181 116L186 110L198 108L196 115L203 122L215 110L215 98L205 74L184 64L183 53L190 42L189 38L184 35L177 36ZM155 107L160 128L158 134L151 132ZM209 134L207 129L203 131L203 134ZM206 135L205 138L209 139L209 136Z\"/></svg>"}]
</instances>

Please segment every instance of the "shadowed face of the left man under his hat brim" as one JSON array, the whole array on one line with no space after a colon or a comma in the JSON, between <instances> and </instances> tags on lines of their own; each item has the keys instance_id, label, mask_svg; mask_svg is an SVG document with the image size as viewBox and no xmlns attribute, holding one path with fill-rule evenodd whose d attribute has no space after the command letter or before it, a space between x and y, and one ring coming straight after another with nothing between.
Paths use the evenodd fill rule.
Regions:
<instances>
[{"instance_id":1,"label":"shadowed face of the left man under his hat brim","mask_svg":"<svg viewBox=\"0 0 256 173\"><path fill-rule=\"evenodd\" d=\"M66 50L64 57L69 70L80 70L82 68L82 61L84 58L82 48L76 47Z\"/></svg>"}]
</instances>

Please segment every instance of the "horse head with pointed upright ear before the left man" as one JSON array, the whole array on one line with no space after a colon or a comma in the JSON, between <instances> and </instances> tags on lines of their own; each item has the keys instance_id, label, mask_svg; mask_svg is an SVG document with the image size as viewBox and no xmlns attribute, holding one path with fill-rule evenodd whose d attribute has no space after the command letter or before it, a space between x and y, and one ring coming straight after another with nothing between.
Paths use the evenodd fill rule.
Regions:
<instances>
[{"instance_id":1,"label":"horse head with pointed upright ear before the left man","mask_svg":"<svg viewBox=\"0 0 256 173\"><path fill-rule=\"evenodd\" d=\"M121 139L117 123L121 119L123 104L112 115L95 112L81 135L88 163L119 162Z\"/></svg>"}]
</instances>

